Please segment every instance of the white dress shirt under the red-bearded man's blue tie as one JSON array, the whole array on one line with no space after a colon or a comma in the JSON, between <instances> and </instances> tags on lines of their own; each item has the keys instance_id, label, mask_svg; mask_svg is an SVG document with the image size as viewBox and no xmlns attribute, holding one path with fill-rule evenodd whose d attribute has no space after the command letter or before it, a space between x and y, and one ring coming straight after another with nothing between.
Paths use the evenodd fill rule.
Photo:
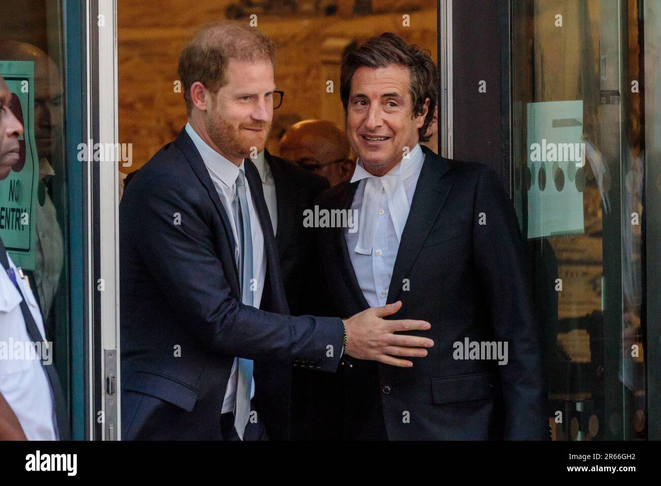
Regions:
<instances>
[{"instance_id":1,"label":"white dress shirt under the red-bearded man's blue tie","mask_svg":"<svg viewBox=\"0 0 661 486\"><path fill-rule=\"evenodd\" d=\"M235 248L234 254L238 261L239 258L239 238L237 228L234 223L234 212L232 210L232 201L237 193L237 177L239 171L244 171L244 163L241 162L241 167L237 167L231 161L225 159L222 155L217 153L212 147L207 145L202 138L195 132L190 123L186 124L186 133L190 136L196 148L202 156L202 161L206 165L211 180L214 182L215 190L218 192L220 200L223 202L223 207L227 213L227 219L232 227L234 234ZM253 235L253 271L254 278L256 278L256 288L254 291L254 307L259 308L262 301L262 292L264 292L264 279L266 278L266 254L264 253L264 234L262 233L262 225L259 222L257 212L254 208L253 198L251 197L250 183L246 177L246 197L248 199L248 211L250 213L251 233ZM225 390L225 399L223 401L223 411L227 413L234 411L236 403L237 383L239 379L238 360L234 358L232 371L229 375L229 382ZM254 378L251 385L251 398L254 396Z\"/></svg>"}]
</instances>

